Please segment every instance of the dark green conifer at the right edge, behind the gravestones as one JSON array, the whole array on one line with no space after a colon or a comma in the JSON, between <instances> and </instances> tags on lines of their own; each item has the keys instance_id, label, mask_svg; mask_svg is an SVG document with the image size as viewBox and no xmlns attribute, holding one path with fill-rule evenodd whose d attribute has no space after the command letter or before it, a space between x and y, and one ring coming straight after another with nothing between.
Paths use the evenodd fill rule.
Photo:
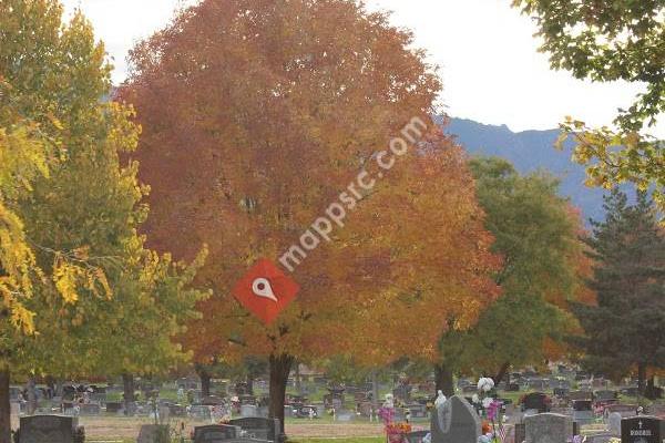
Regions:
<instances>
[{"instance_id":1,"label":"dark green conifer at the right edge, behind the gravestones","mask_svg":"<svg viewBox=\"0 0 665 443\"><path fill-rule=\"evenodd\" d=\"M665 235L644 193L630 205L614 190L605 210L586 239L597 302L574 306L585 333L575 341L591 370L620 379L636 368L644 392L647 370L665 367Z\"/></svg>"}]
</instances>

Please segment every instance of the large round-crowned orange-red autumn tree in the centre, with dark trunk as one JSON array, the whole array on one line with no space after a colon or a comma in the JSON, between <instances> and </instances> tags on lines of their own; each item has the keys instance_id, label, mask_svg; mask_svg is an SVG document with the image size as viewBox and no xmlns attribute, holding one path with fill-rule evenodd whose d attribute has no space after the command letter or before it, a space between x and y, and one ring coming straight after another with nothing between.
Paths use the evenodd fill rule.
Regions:
<instances>
[{"instance_id":1,"label":"large round-crowned orange-red autumn tree in the centre, with dark trunk","mask_svg":"<svg viewBox=\"0 0 665 443\"><path fill-rule=\"evenodd\" d=\"M215 296L201 305L204 319L185 341L202 362L221 352L227 358L267 357L270 414L282 420L295 358L307 361L354 349L392 352L385 340L367 340L366 328L381 312L390 312L381 297L420 297L417 285L407 285L417 279L417 261L405 259L401 269L391 266L395 251L387 238L399 235L400 226L376 228L395 222L397 215L383 218L371 205L364 209L362 202L345 208L349 223L330 234L334 241L321 239L323 245L295 268L299 296L273 326L254 319L229 293L255 260L276 260L298 243L405 125L411 122L411 142L416 133L423 135L427 126L433 126L429 115L440 84L411 43L412 35L390 27L386 14L368 13L354 1L233 0L203 1L182 11L168 28L132 51L130 79L120 96L136 106L144 127L136 156L143 166L141 177L152 188L150 244L182 258L192 257L204 243L209 246L198 280ZM446 147L441 140L431 144ZM417 162L415 154L402 158ZM444 171L463 168L459 155L452 158L457 161L450 159ZM396 171L399 167L395 165ZM428 165L409 167L416 173ZM399 182L398 176L387 178L386 187ZM461 235L459 226L479 216L464 188L469 181L463 183L451 179L447 187L451 202L470 202L461 206L459 219L449 218L454 206L437 206L442 238ZM421 190L427 183L418 186ZM403 204L419 210L437 203L431 195L427 203L416 202L413 193L396 189L403 194L397 196ZM354 192L358 199L371 194L372 200L386 194L357 186L347 189L347 197ZM389 210L389 202L381 202L381 209ZM406 214L399 218L403 227L408 206L399 212ZM423 235L427 228L419 226L418 234ZM379 238L378 233L385 236ZM399 254L409 258L417 243L407 236L396 238L403 244ZM470 243L472 250L481 255L485 250L482 234ZM433 248L428 254L437 257ZM469 275L477 269L471 262L463 265ZM434 266L423 269L420 279L429 299L446 286L430 280ZM482 274L484 264L478 269ZM400 285L387 293L392 272L401 276ZM448 295L449 303L444 295L437 302L458 311L473 310L482 303L479 298L491 297L467 287L458 298ZM440 330L438 318L431 323Z\"/></svg>"}]
</instances>

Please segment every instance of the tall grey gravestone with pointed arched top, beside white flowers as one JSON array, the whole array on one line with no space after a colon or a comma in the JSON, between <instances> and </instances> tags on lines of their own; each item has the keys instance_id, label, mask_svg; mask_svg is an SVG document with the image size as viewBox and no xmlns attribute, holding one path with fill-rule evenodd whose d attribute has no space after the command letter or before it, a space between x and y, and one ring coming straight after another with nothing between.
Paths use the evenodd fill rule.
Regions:
<instances>
[{"instance_id":1,"label":"tall grey gravestone with pointed arched top, beside white flowers","mask_svg":"<svg viewBox=\"0 0 665 443\"><path fill-rule=\"evenodd\" d=\"M469 402L453 395L432 412L431 443L475 443L480 418Z\"/></svg>"}]
</instances>

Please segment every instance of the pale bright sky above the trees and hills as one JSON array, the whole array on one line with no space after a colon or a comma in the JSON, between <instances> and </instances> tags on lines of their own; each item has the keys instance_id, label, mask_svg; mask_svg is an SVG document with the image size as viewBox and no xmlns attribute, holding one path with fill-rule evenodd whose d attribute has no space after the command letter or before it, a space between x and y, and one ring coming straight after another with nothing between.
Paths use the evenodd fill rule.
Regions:
<instances>
[{"instance_id":1,"label":"pale bright sky above the trees and hills","mask_svg":"<svg viewBox=\"0 0 665 443\"><path fill-rule=\"evenodd\" d=\"M126 75L135 42L165 27L174 10L194 0L62 0L80 7L113 59L113 80ZM531 19L511 0L367 0L370 10L392 11L391 22L411 29L415 44L440 68L440 102L456 117L508 125L512 131L556 127L566 115L592 125L610 124L642 85L592 83L550 69L538 52ZM665 117L652 130L665 138Z\"/></svg>"}]
</instances>

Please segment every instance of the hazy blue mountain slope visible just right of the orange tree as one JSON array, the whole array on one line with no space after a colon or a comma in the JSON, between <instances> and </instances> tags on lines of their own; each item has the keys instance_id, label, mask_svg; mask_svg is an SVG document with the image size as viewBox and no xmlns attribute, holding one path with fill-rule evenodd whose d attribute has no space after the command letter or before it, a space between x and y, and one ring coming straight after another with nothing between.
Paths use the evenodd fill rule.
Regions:
<instances>
[{"instance_id":1,"label":"hazy blue mountain slope visible just right of the orange tree","mask_svg":"<svg viewBox=\"0 0 665 443\"><path fill-rule=\"evenodd\" d=\"M571 162L572 144L554 148L559 130L512 132L508 126L492 126L472 120L451 119L444 131L456 135L470 154L503 157L520 173L545 169L561 179L561 195L582 209L584 220L602 219L603 189L584 185L584 167Z\"/></svg>"}]
</instances>

